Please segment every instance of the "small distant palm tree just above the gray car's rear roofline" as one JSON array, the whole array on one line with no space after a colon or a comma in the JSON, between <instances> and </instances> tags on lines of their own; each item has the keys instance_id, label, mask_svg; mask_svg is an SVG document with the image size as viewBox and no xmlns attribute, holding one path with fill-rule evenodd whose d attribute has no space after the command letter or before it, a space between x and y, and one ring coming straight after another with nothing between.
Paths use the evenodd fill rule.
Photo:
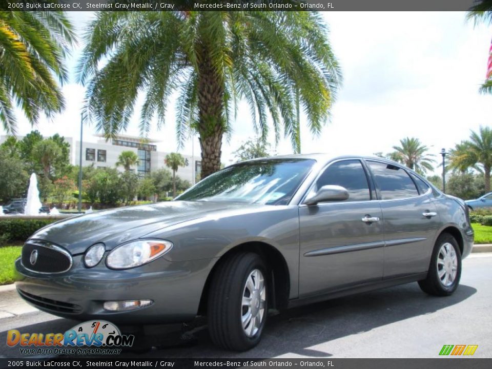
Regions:
<instances>
[{"instance_id":1,"label":"small distant palm tree just above the gray car's rear roofline","mask_svg":"<svg viewBox=\"0 0 492 369\"><path fill-rule=\"evenodd\" d=\"M425 172L434 170L432 163L435 162L430 156L433 154L426 154L428 151L427 146L422 145L418 138L405 137L400 140L401 146L393 146L395 150L388 156L395 161L401 162L408 168L415 170L419 174L425 174Z\"/></svg>"}]
</instances>

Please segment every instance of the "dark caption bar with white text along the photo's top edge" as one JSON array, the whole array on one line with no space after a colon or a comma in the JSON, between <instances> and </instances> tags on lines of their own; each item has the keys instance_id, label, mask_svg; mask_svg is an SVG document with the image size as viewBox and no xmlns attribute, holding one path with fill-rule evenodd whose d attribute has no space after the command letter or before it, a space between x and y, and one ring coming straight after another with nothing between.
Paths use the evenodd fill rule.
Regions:
<instances>
[{"instance_id":1,"label":"dark caption bar with white text along the photo's top edge","mask_svg":"<svg viewBox=\"0 0 492 369\"><path fill-rule=\"evenodd\" d=\"M476 0L0 0L10 11L466 11Z\"/></svg>"}]
</instances>

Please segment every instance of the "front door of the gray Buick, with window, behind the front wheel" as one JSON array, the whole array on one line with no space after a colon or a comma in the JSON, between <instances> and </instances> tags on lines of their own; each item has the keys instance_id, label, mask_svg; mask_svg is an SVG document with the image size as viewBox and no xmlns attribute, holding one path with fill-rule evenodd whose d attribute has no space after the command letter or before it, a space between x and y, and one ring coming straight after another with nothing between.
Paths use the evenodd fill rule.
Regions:
<instances>
[{"instance_id":1,"label":"front door of the gray Buick, with window, behind the front wheel","mask_svg":"<svg viewBox=\"0 0 492 369\"><path fill-rule=\"evenodd\" d=\"M311 191L325 185L345 187L349 198L299 207L300 297L381 280L383 275L381 208L372 200L375 193L362 161L330 163Z\"/></svg>"}]
</instances>

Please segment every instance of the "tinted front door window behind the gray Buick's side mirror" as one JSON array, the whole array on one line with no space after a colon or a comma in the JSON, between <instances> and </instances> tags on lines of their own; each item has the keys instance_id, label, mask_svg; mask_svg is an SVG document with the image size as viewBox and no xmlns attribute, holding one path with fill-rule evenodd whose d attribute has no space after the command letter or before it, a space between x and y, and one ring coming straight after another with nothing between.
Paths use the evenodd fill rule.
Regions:
<instances>
[{"instance_id":1,"label":"tinted front door window behind the gray Buick's side mirror","mask_svg":"<svg viewBox=\"0 0 492 369\"><path fill-rule=\"evenodd\" d=\"M345 187L348 191L346 201L371 200L367 177L359 160L343 160L331 164L318 178L316 188L326 185Z\"/></svg>"}]
</instances>

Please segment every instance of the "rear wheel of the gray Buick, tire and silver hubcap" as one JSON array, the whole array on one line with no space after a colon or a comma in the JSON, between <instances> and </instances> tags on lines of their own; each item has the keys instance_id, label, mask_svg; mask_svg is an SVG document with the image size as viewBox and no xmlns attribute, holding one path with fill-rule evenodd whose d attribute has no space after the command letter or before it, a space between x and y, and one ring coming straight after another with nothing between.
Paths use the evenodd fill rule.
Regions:
<instances>
[{"instance_id":1,"label":"rear wheel of the gray Buick, tire and silver hubcap","mask_svg":"<svg viewBox=\"0 0 492 369\"><path fill-rule=\"evenodd\" d=\"M427 278L419 281L429 295L448 296L456 291L461 277L461 252L456 239L447 233L439 236L430 259Z\"/></svg>"}]
</instances>

